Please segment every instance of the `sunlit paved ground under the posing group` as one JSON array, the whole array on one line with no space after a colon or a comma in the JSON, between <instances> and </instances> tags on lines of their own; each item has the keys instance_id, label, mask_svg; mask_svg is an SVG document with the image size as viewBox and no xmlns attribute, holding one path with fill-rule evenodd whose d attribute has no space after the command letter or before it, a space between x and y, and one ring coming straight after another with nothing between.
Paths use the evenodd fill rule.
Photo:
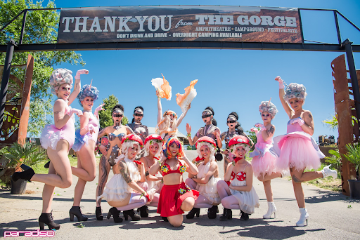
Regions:
<instances>
[{"instance_id":1,"label":"sunlit paved ground under the posing group","mask_svg":"<svg viewBox=\"0 0 360 240\"><path fill-rule=\"evenodd\" d=\"M188 151L188 156L195 156L195 151ZM190 157L189 157L190 158ZM220 175L223 175L222 162L219 163ZM278 212L275 219L263 220L267 211L266 198L262 182L254 180L254 187L260 198L260 206L247 222L240 221L238 210L233 211L233 220L220 222L207 218L207 209L202 209L200 218L184 219L181 227L172 227L163 222L150 207L149 218L139 222L124 221L115 224L113 218L97 221L95 218L95 189L97 178L86 185L82 200L82 213L89 220L70 222L69 213L72 206L77 178L68 189L56 188L53 200L53 217L61 224L53 239L360 239L360 201L347 198L338 192L331 192L318 187L304 185L309 225L295 227L300 213L289 179L272 180L274 199ZM11 195L0 190L0 237L9 230L39 229L37 219L41 214L41 190L44 184L27 183L27 194ZM351 208L350 208L351 206ZM106 216L110 206L103 201L103 215ZM222 213L222 206L219 207ZM75 218L76 219L76 218ZM20 236L20 239L29 239ZM19 238L17 238L19 239Z\"/></svg>"}]
</instances>

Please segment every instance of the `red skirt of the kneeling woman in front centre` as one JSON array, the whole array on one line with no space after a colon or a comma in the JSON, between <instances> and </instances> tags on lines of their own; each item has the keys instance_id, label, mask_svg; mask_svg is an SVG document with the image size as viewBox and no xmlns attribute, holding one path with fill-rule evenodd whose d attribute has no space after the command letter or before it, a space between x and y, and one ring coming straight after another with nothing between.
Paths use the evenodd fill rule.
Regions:
<instances>
[{"instance_id":1,"label":"red skirt of the kneeling woman in front centre","mask_svg":"<svg viewBox=\"0 0 360 240\"><path fill-rule=\"evenodd\" d=\"M187 197L198 199L199 192L188 187L185 182L177 185L164 185L160 192L158 211L162 217L183 214L181 204Z\"/></svg>"}]
</instances>

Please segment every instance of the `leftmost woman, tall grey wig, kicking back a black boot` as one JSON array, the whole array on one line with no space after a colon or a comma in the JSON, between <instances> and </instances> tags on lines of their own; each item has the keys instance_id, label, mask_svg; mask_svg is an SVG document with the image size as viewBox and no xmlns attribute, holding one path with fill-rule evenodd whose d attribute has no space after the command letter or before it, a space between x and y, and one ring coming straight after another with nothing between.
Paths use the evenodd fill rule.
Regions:
<instances>
[{"instance_id":1,"label":"leftmost woman, tall grey wig, kicking back a black boot","mask_svg":"<svg viewBox=\"0 0 360 240\"><path fill-rule=\"evenodd\" d=\"M51 93L58 99L53 105L54 125L46 125L41 133L41 146L47 149L50 159L48 174L35 174L32 168L22 165L25 170L13 174L13 180L19 178L34 182L44 182L42 192L43 207L39 218L40 229L44 224L49 229L60 229L60 225L53 222L51 203L55 187L68 188L72 184L71 166L68 152L75 141L74 115L82 115L82 111L70 107L80 91L80 74L88 74L89 71L82 69L75 76L74 91L72 88L72 72L68 69L56 69L50 77Z\"/></svg>"}]
</instances>

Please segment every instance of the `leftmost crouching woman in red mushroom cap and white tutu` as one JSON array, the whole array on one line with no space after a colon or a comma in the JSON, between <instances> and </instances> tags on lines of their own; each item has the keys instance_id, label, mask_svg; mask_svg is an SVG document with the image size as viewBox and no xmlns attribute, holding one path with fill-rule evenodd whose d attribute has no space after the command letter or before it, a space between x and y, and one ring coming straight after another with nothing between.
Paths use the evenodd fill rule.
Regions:
<instances>
[{"instance_id":1,"label":"leftmost crouching woman in red mushroom cap and white tutu","mask_svg":"<svg viewBox=\"0 0 360 240\"><path fill-rule=\"evenodd\" d=\"M122 138L122 154L115 159L113 178L105 185L103 194L98 196L98 199L105 199L113 206L108 218L113 215L114 222L122 222L120 211L123 211L125 220L129 216L134 221L141 220L139 215L135 215L134 208L140 208L150 201L146 192L148 185L145 182L145 168L141 161L135 160L142 146L143 141L136 134Z\"/></svg>"}]
</instances>

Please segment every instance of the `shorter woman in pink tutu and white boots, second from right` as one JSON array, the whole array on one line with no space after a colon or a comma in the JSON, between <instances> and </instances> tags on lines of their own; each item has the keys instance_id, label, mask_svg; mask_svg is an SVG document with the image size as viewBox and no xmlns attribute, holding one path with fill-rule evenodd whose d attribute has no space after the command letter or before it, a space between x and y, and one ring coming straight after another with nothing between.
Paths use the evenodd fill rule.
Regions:
<instances>
[{"instance_id":1,"label":"shorter woman in pink tutu and white boots, second from right","mask_svg":"<svg viewBox=\"0 0 360 240\"><path fill-rule=\"evenodd\" d=\"M285 171L284 173L276 171L276 156L269 151L273 146L272 138L275 133L275 126L271 124L271 120L274 119L278 109L276 109L274 103L264 101L259 106L259 112L264 124L255 124L256 127L260 128L260 131L257 128L251 128L251 131L257 136L255 149L250 153L250 157L252 157L251 166L255 177L262 181L265 189L268 211L262 217L271 218L274 213L275 218L276 207L271 190L271 179L285 176Z\"/></svg>"}]
</instances>

